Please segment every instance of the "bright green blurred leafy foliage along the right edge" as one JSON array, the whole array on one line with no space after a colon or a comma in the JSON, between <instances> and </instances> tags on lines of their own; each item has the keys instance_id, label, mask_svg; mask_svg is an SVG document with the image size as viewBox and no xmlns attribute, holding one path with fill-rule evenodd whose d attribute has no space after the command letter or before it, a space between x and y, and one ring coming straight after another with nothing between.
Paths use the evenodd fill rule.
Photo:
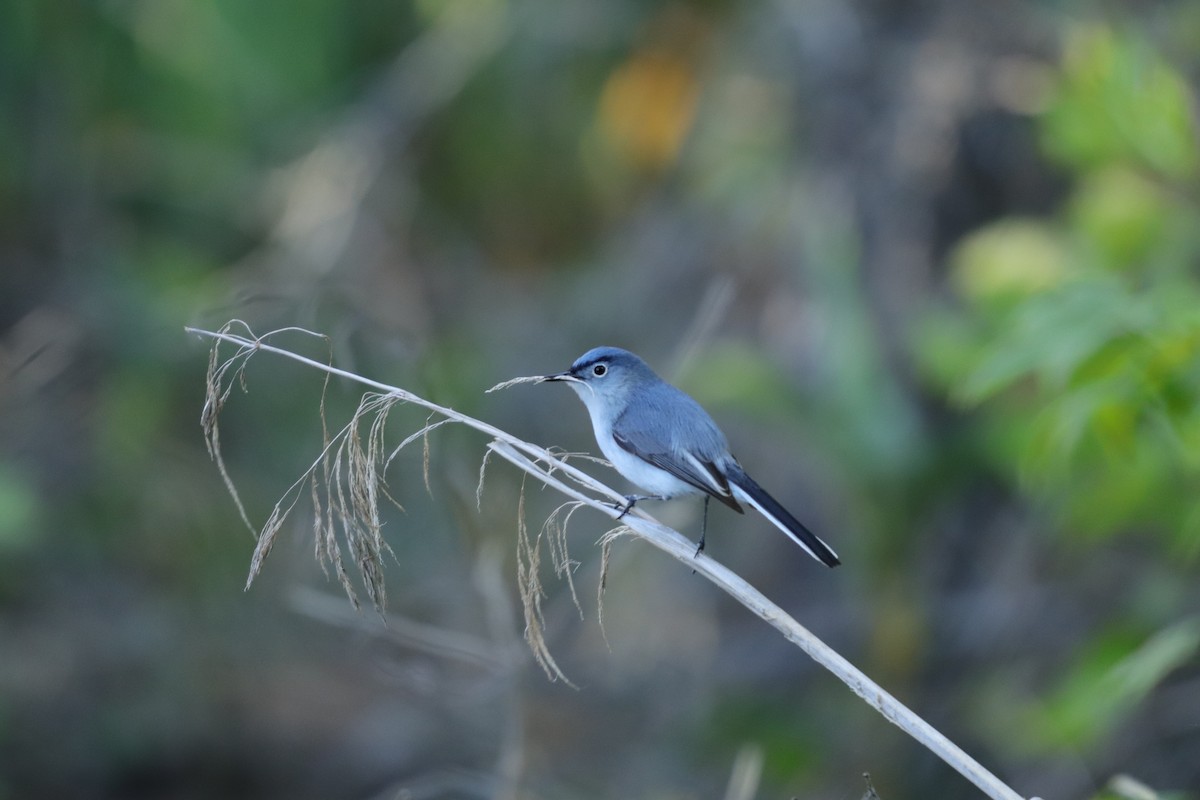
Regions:
<instances>
[{"instance_id":1,"label":"bright green blurred leafy foliage along the right edge","mask_svg":"<svg viewBox=\"0 0 1200 800\"><path fill-rule=\"evenodd\" d=\"M1039 127L1072 175L1051 218L1003 218L950 258L961 305L919 327L917 354L971 409L980 455L1052 512L1046 531L1121 534L1195 579L1200 555L1200 169L1194 98L1133 32L1079 28ZM1084 555L1086 558L1086 555ZM1174 669L1200 627L1176 603L1114 620L1043 702L1034 747L1092 747ZM1128 625L1128 624L1132 624Z\"/></svg>"}]
</instances>

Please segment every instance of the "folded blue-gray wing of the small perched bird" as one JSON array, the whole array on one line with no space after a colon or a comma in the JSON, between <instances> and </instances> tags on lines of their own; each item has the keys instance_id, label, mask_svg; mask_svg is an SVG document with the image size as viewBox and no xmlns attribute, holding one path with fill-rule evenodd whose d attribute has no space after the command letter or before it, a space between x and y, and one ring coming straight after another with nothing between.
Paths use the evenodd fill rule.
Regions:
<instances>
[{"instance_id":1,"label":"folded blue-gray wing of the small perched bird","mask_svg":"<svg viewBox=\"0 0 1200 800\"><path fill-rule=\"evenodd\" d=\"M696 401L668 384L660 386L664 391L643 395L634 410L617 417L613 440L622 450L740 512L716 465L718 459L728 457L724 434Z\"/></svg>"}]
</instances>

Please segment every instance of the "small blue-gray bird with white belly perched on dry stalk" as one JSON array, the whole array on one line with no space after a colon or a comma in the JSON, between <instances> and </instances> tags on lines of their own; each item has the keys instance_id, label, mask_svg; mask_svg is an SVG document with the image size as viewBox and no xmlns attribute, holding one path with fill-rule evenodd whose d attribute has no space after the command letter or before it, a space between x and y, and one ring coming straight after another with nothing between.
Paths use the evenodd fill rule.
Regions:
<instances>
[{"instance_id":1,"label":"small blue-gray bird with white belly perched on dry stalk","mask_svg":"<svg viewBox=\"0 0 1200 800\"><path fill-rule=\"evenodd\" d=\"M688 494L716 498L738 513L742 503L757 509L809 555L838 566L838 554L788 513L745 474L730 453L725 434L700 403L659 378L629 350L600 347L581 355L571 368L542 380L566 381L592 416L592 429L618 473L650 494L625 497L624 516L638 500L668 500ZM704 528L700 547L704 549Z\"/></svg>"}]
</instances>

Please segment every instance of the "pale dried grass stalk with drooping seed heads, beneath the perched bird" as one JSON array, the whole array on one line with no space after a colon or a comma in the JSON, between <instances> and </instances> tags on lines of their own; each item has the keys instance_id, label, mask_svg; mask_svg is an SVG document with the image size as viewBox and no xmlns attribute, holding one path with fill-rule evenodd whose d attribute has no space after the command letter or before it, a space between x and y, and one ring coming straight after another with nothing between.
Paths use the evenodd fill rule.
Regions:
<instances>
[{"instance_id":1,"label":"pale dried grass stalk with drooping seed heads, beneath the perched bird","mask_svg":"<svg viewBox=\"0 0 1200 800\"><path fill-rule=\"evenodd\" d=\"M242 327L247 335L239 336L230 333L229 331L235 326ZM251 563L251 579L262 569L262 563L270 552L270 547L283 524L283 519L295 505L294 494L296 487L308 481L310 492L313 498L313 528L317 537L318 559L322 560L323 565L330 563L334 565L334 570L350 596L350 600L358 603L353 585L342 566L341 548L346 545L355 558L360 576L372 602L377 608L383 609L386 595L383 588L382 561L385 553L391 555L391 551L383 541L378 503L380 497L386 495L383 471L385 471L388 462L396 452L392 451L388 458L382 461L383 469L380 469L383 431L385 428L386 414L396 403L420 405L432 413L431 419L437 417L437 420L427 423L416 434L408 437L401 447L415 441L416 438L421 438L425 441L426 469L428 459L427 434L440 425L458 422L492 437L492 441L487 445L487 453L485 453L480 465L480 486L476 491L476 499L482 492L487 456L496 453L523 470L527 475L560 492L570 500L551 515L551 519L546 521L539 530L538 536L533 539L530 539L529 529L526 524L523 485L518 500L517 579L526 618L526 639L538 663L552 679L566 680L563 670L558 667L546 646L544 634L545 618L542 614L542 601L546 597L546 593L540 578L542 541L546 541L556 572L560 577L565 577L570 584L575 563L570 559L566 551L565 527L575 511L586 505L613 519L620 517L620 522L623 523L622 527L608 531L600 540L602 554L600 591L604 590L608 553L612 545L623 536L635 536L646 541L686 565L697 575L706 577L751 613L775 627L785 639L793 643L817 663L832 672L851 691L878 710L888 721L899 726L922 742L942 760L974 783L989 798L992 798L992 800L1022 800L1020 794L1006 786L978 762L962 752L961 748L854 668L841 655L812 636L812 633L784 612L782 608L763 596L762 593L722 564L714 561L709 555L697 554L695 543L680 533L661 525L640 507L634 509L622 517L619 509L623 506L624 498L612 488L568 463L563 455L553 453L544 447L517 439L494 426L460 414L451 408L431 403L403 389L388 386L337 369L265 342L266 338L280 331L264 337L256 337L250 331L250 327L239 320L227 324L220 331L186 330L216 339L209 359L209 374L205 381L206 398L204 413L202 414L202 426L204 427L205 440L209 443L209 452L212 455L214 461L217 462L222 479L234 497L239 506L239 513L247 522L247 525L250 524L248 516L238 499L236 489L221 459L220 433L216 422L224 402L232 392L234 380L242 381L242 371L246 360L254 353L269 351L299 361L316 369L322 369L329 375L338 375L358 381L376 392L380 392L366 395L350 423L338 433L332 437L329 437L326 433L325 447L320 457L288 489L284 498L276 504L268 523L258 534L258 547L256 547L254 558ZM221 361L217 351L221 343L234 344L238 348L236 353L226 361ZM535 383L536 380L538 378L518 378L494 386L493 391L516 384ZM242 387L245 389L244 383ZM324 425L324 399L322 402L322 419ZM364 447L360 439L360 423L365 420L370 420L370 425L367 443ZM331 452L332 456L330 455ZM346 474L344 481L342 477L343 471ZM253 527L250 527L253 530ZM338 533L341 536L338 536ZM574 585L571 591L572 597L575 597ZM575 597L575 600L577 604L578 599Z\"/></svg>"}]
</instances>

